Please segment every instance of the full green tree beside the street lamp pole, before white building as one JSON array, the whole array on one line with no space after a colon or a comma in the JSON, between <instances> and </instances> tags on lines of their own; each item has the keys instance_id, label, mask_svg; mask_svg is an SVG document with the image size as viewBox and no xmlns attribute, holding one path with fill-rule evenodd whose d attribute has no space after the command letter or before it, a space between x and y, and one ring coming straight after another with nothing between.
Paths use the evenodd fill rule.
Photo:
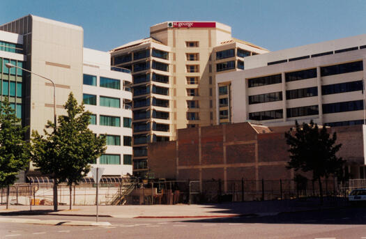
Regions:
<instances>
[{"instance_id":1,"label":"full green tree beside the street lamp pole, before white building","mask_svg":"<svg viewBox=\"0 0 366 239\"><path fill-rule=\"evenodd\" d=\"M105 136L96 136L88 125L91 112L84 105L77 105L73 93L68 96L64 108L66 116L59 116L58 126L54 128L48 121L44 136L32 132L32 160L38 170L49 174L54 180L54 210L57 210L57 185L67 181L70 189L70 209L72 208L73 184L77 184L90 171L90 165L105 152Z\"/></svg>"}]
</instances>

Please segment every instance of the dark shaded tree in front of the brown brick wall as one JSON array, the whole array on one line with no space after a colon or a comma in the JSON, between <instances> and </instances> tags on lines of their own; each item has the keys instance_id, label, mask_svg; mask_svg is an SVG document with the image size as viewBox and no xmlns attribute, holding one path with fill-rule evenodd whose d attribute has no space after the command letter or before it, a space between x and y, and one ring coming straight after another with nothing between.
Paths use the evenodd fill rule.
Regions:
<instances>
[{"instance_id":1,"label":"dark shaded tree in front of the brown brick wall","mask_svg":"<svg viewBox=\"0 0 366 239\"><path fill-rule=\"evenodd\" d=\"M296 121L295 130L286 132L285 137L290 153L287 169L312 171L313 180L319 182L321 202L323 202L321 178L341 175L345 162L342 157L335 155L342 146L342 144L335 145L337 134L333 133L330 137L326 127L319 130L318 125L313 121L310 121L310 124L303 123L301 127Z\"/></svg>"}]
</instances>

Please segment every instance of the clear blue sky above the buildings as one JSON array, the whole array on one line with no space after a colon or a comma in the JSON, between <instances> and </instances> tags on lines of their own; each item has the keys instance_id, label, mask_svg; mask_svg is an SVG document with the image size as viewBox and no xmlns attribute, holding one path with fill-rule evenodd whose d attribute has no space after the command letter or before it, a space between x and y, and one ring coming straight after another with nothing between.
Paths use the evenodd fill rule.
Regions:
<instances>
[{"instance_id":1,"label":"clear blue sky above the buildings","mask_svg":"<svg viewBox=\"0 0 366 239\"><path fill-rule=\"evenodd\" d=\"M28 14L82 26L84 47L102 51L166 21L222 22L271 51L366 33L366 0L5 0L0 24Z\"/></svg>"}]
</instances>

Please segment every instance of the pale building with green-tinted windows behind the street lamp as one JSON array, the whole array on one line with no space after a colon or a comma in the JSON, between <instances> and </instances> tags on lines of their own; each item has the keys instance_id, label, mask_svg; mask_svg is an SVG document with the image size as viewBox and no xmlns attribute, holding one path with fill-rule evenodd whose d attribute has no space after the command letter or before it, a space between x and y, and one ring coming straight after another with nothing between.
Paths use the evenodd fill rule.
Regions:
<instances>
[{"instance_id":1,"label":"pale building with green-tinted windows behind the street lamp","mask_svg":"<svg viewBox=\"0 0 366 239\"><path fill-rule=\"evenodd\" d=\"M105 167L105 174L109 176L132 174L132 146L128 146L132 130L128 126L123 127L130 125L128 122L132 118L132 110L128 106L132 93L125 86L132 80L130 72L111 68L108 52L84 49L83 42L81 26L34 15L1 25L0 101L4 97L9 98L17 116L22 118L22 124L29 126L26 136L29 139L32 130L42 133L47 121L54 119L53 85L19 68L6 68L6 63L52 79L56 86L57 116L66 114L63 105L70 92L79 103L83 100L83 91L94 93L96 98L93 99L98 105L86 105L86 109L93 112L92 123L96 123L90 128L97 134L108 134L107 152L97 160L97 164ZM83 72L91 75L91 79L84 82L91 80L92 84L98 85L83 85ZM114 88L117 84L120 88ZM112 121L115 125L111 125ZM36 174L32 164L27 174ZM20 181L23 180L24 177L20 177Z\"/></svg>"}]
</instances>

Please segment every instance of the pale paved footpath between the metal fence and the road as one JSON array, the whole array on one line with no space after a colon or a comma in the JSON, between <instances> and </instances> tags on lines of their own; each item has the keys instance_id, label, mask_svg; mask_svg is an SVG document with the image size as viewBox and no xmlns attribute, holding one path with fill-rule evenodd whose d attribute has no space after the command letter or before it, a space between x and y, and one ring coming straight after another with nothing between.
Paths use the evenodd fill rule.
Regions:
<instances>
[{"instance_id":1,"label":"pale paved footpath between the metal fence and the road","mask_svg":"<svg viewBox=\"0 0 366 239\"><path fill-rule=\"evenodd\" d=\"M208 218L208 217L261 217L277 215L279 213L295 213L310 210L326 210L330 208L342 208L348 206L347 201L340 199L324 199L323 206L319 199L305 200L275 200L275 201L247 201L241 203L209 203L209 204L176 204L176 205L128 205L128 206L98 206L99 217L119 217L119 218ZM70 225L99 225L88 217L96 216L96 206L59 206L59 210L54 212L53 206L29 206L10 205L0 206L0 222L6 222L12 215L59 215L85 217L86 221L68 220ZM62 217L60 217L62 218ZM36 220L36 219L34 219ZM38 220L39 221L39 220ZM60 224L60 220L45 224ZM12 221L14 222L14 221ZM43 222L21 222L43 224ZM65 223L66 224L66 223Z\"/></svg>"}]
</instances>

